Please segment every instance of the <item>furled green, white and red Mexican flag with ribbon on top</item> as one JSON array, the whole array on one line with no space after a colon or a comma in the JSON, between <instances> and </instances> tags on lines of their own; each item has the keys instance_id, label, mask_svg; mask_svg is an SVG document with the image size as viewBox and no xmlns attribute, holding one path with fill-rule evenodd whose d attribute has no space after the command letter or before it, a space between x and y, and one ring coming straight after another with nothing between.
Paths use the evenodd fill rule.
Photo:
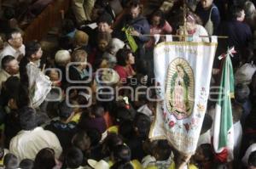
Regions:
<instances>
[{"instance_id":1,"label":"furled green, white and red Mexican flag with ribbon on top","mask_svg":"<svg viewBox=\"0 0 256 169\"><path fill-rule=\"evenodd\" d=\"M234 75L230 55L234 48L224 56L218 101L213 122L213 148L220 161L233 160L234 128L232 119L231 98L234 98Z\"/></svg>"}]
</instances>

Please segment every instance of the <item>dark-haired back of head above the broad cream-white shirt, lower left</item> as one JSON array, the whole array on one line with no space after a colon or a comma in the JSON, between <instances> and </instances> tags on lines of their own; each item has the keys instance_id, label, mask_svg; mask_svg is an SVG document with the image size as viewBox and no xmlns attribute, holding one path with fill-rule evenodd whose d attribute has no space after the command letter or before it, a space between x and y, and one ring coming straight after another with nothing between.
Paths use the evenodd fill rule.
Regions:
<instances>
[{"instance_id":1,"label":"dark-haired back of head above the broad cream-white shirt, lower left","mask_svg":"<svg viewBox=\"0 0 256 169\"><path fill-rule=\"evenodd\" d=\"M20 127L23 130L32 130L38 126L36 119L36 111L31 107L23 107L19 111Z\"/></svg>"}]
</instances>

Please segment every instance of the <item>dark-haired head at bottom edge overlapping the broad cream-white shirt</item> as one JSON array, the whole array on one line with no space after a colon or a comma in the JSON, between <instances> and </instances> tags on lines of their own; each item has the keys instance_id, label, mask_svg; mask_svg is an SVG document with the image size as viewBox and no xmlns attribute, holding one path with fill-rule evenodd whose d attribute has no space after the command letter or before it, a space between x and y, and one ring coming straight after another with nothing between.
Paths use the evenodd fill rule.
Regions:
<instances>
[{"instance_id":1,"label":"dark-haired head at bottom edge overlapping the broad cream-white shirt","mask_svg":"<svg viewBox=\"0 0 256 169\"><path fill-rule=\"evenodd\" d=\"M55 150L50 148L41 149L35 158L34 168L49 169L56 165Z\"/></svg>"}]
</instances>

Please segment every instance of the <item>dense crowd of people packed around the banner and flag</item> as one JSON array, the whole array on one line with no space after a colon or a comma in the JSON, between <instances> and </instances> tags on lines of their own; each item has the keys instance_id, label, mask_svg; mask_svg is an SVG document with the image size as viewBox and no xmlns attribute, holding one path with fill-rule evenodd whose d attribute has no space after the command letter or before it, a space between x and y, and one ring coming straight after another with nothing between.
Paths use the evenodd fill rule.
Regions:
<instances>
[{"instance_id":1,"label":"dense crowd of people packed around the banner and flag","mask_svg":"<svg viewBox=\"0 0 256 169\"><path fill-rule=\"evenodd\" d=\"M251 1L179 2L71 0L61 20L57 48L44 54L37 40L22 40L3 11L0 26L0 165L6 169L174 169L183 163L167 140L149 140L156 113L154 34L189 35L185 41L219 39L211 86L218 86L218 55L234 46L232 100L234 160L211 144L214 96L198 149L185 168L256 168L256 9ZM145 5L145 6L143 6ZM143 7L147 11L143 10ZM153 8L154 7L154 8ZM8 16L8 17L7 17ZM13 14L15 16L15 14ZM0 20L1 22L1 20ZM7 23L7 24L6 24ZM1 25L1 23L0 23ZM35 30L36 31L36 30ZM175 40L175 39L174 39ZM181 40L179 38L177 41ZM166 41L160 37L158 42ZM254 135L255 134L255 135Z\"/></svg>"}]
</instances>

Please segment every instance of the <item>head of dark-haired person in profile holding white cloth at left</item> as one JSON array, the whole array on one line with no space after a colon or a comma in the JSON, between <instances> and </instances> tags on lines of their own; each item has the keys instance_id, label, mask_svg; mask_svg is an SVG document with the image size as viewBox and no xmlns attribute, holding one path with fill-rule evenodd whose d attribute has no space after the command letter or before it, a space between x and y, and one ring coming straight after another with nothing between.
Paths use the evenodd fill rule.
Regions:
<instances>
[{"instance_id":1,"label":"head of dark-haired person in profile holding white cloth at left","mask_svg":"<svg viewBox=\"0 0 256 169\"><path fill-rule=\"evenodd\" d=\"M38 59L41 59L43 55L43 50L41 48L41 45L37 41L31 41L26 43L26 57L30 61L37 61Z\"/></svg>"}]
</instances>

